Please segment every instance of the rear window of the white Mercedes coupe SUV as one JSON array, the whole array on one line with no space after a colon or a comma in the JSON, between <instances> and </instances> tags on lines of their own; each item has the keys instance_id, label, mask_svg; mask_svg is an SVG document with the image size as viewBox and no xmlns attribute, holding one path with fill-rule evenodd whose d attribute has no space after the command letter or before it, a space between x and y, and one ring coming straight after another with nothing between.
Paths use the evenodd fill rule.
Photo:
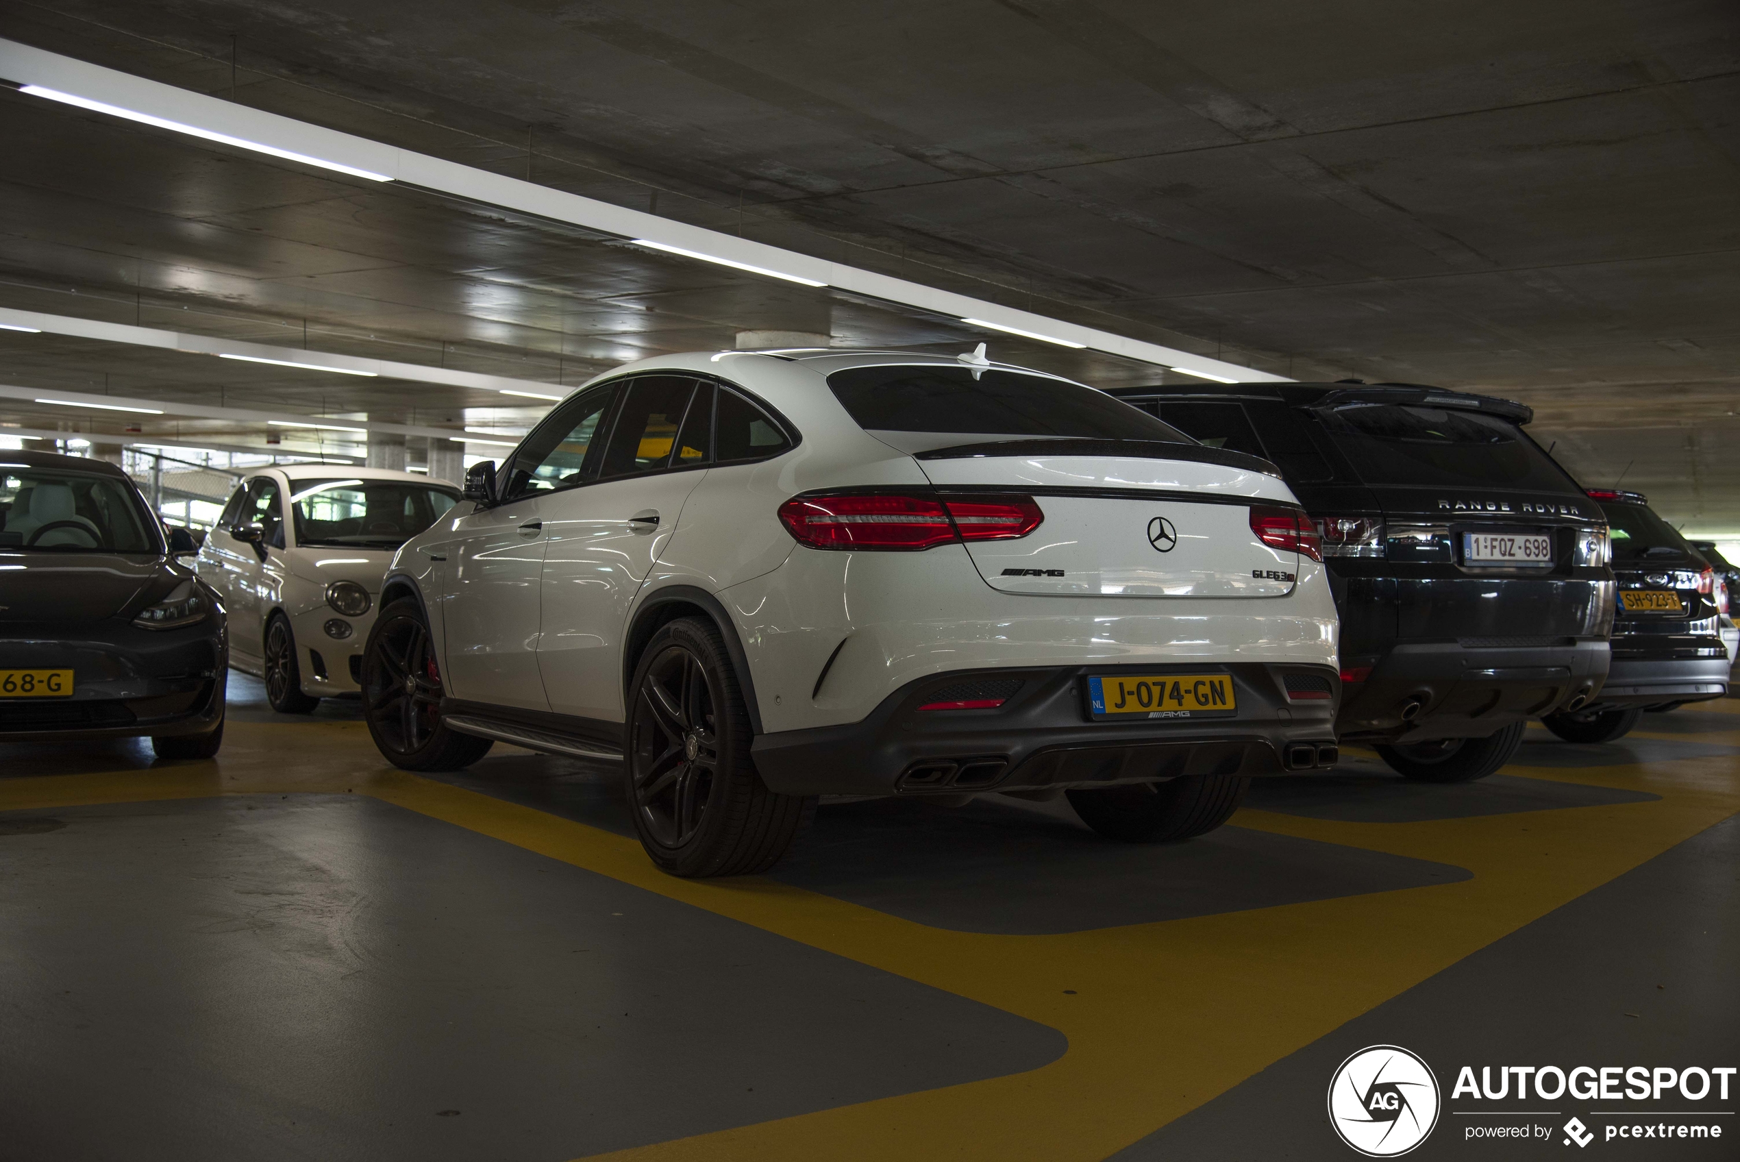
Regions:
<instances>
[{"instance_id":1,"label":"rear window of the white Mercedes coupe SUV","mask_svg":"<svg viewBox=\"0 0 1740 1162\"><path fill-rule=\"evenodd\" d=\"M828 386L860 428L1006 437L1162 440L1190 437L1067 379L971 367L853 367Z\"/></svg>"}]
</instances>

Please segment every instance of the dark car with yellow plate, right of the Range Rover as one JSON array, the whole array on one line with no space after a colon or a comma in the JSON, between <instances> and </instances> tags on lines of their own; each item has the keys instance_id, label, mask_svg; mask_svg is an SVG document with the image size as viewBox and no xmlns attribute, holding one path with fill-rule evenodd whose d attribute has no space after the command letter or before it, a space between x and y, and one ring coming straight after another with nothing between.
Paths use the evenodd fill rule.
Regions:
<instances>
[{"instance_id":1,"label":"dark car with yellow plate, right of the Range Rover","mask_svg":"<svg viewBox=\"0 0 1740 1162\"><path fill-rule=\"evenodd\" d=\"M1608 743L1637 725L1644 710L1728 692L1728 649L1721 638L1728 602L1723 578L1641 492L1590 489L1589 496L1613 531L1613 668L1596 701L1542 722L1573 743Z\"/></svg>"}]
</instances>

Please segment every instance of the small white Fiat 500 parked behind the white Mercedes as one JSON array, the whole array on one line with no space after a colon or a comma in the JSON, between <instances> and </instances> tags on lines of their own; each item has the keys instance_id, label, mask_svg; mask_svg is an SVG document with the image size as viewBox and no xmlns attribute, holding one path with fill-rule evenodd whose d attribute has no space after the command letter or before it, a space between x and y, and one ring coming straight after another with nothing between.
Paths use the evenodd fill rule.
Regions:
<instances>
[{"instance_id":1,"label":"small white Fiat 500 parked behind the white Mercedes","mask_svg":"<svg viewBox=\"0 0 1740 1162\"><path fill-rule=\"evenodd\" d=\"M355 694L393 550L459 501L409 471L263 468L224 504L195 562L230 611L230 664L280 713Z\"/></svg>"}]
</instances>

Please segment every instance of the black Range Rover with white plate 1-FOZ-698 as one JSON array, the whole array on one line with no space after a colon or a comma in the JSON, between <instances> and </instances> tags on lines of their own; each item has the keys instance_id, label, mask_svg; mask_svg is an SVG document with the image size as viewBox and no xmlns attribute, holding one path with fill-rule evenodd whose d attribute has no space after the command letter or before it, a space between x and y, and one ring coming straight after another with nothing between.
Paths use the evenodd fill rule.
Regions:
<instances>
[{"instance_id":1,"label":"black Range Rover with white plate 1-FOZ-698","mask_svg":"<svg viewBox=\"0 0 1740 1162\"><path fill-rule=\"evenodd\" d=\"M1606 517L1509 400L1413 384L1112 395L1274 461L1322 532L1342 614L1336 732L1411 779L1491 774L1608 673Z\"/></svg>"}]
</instances>

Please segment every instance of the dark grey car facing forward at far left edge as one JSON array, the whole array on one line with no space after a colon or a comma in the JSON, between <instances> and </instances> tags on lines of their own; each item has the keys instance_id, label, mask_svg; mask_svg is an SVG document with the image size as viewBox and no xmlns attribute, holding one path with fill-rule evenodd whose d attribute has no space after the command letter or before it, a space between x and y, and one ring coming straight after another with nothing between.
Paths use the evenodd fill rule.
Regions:
<instances>
[{"instance_id":1,"label":"dark grey car facing forward at far left edge","mask_svg":"<svg viewBox=\"0 0 1740 1162\"><path fill-rule=\"evenodd\" d=\"M0 452L0 741L218 753L230 649L193 551L115 464Z\"/></svg>"}]
</instances>

